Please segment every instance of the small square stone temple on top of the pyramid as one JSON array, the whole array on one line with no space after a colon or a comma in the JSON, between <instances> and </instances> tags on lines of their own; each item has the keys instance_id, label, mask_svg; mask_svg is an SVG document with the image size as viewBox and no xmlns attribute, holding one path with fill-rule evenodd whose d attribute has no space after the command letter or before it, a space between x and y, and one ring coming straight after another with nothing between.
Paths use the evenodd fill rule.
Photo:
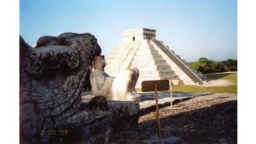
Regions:
<instances>
[{"instance_id":1,"label":"small square stone temple on top of the pyramid","mask_svg":"<svg viewBox=\"0 0 256 144\"><path fill-rule=\"evenodd\" d=\"M124 41L135 41L142 39L156 39L156 30L155 29L130 29L123 31L123 40Z\"/></svg>"}]
</instances>

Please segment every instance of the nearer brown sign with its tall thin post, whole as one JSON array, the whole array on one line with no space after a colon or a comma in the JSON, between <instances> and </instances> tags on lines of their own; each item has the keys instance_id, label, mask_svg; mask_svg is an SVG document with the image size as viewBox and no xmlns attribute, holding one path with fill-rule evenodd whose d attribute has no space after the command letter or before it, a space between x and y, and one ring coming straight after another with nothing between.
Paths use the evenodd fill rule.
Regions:
<instances>
[{"instance_id":1,"label":"nearer brown sign with its tall thin post, whole","mask_svg":"<svg viewBox=\"0 0 256 144\"><path fill-rule=\"evenodd\" d=\"M143 92L154 91L154 98L156 100L156 111L157 111L157 124L158 124L158 137L161 139L161 122L159 118L159 108L158 108L158 95L157 91L168 91L169 81L159 80L159 81L143 81L141 90Z\"/></svg>"}]
</instances>

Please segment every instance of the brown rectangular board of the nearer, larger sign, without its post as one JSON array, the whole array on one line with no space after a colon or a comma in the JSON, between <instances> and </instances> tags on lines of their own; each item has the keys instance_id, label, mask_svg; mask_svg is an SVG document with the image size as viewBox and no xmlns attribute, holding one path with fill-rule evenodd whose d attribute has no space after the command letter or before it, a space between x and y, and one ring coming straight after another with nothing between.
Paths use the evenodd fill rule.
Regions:
<instances>
[{"instance_id":1,"label":"brown rectangular board of the nearer, larger sign, without its post","mask_svg":"<svg viewBox=\"0 0 256 144\"><path fill-rule=\"evenodd\" d=\"M157 91L168 91L169 81L168 80L157 80L157 81L142 81L141 91L155 91L155 84L157 84Z\"/></svg>"}]
</instances>

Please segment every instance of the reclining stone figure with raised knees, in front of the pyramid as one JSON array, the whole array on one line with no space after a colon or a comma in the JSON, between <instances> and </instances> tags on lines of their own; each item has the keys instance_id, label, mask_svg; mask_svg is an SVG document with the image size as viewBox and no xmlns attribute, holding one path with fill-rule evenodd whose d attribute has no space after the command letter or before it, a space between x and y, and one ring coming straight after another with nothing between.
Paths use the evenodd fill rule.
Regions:
<instances>
[{"instance_id":1,"label":"reclining stone figure with raised knees, in front of the pyramid","mask_svg":"<svg viewBox=\"0 0 256 144\"><path fill-rule=\"evenodd\" d=\"M139 101L135 85L139 77L137 68L122 70L116 77L110 77L104 71L104 56L95 57L92 61L90 82L95 96L104 96L113 101Z\"/></svg>"}]
</instances>

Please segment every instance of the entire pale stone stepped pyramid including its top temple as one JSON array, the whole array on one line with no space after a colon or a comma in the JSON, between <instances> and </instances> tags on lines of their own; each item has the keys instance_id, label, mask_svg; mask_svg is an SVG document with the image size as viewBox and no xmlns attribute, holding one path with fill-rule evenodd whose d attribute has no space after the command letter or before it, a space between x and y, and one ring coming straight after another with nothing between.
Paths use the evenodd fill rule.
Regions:
<instances>
[{"instance_id":1,"label":"entire pale stone stepped pyramid including its top temple","mask_svg":"<svg viewBox=\"0 0 256 144\"><path fill-rule=\"evenodd\" d=\"M142 81L178 80L182 84L202 84L203 75L192 70L189 63L156 38L155 29L131 29L123 31L123 42L106 57L106 73L116 77L120 70L137 67Z\"/></svg>"}]
</instances>

